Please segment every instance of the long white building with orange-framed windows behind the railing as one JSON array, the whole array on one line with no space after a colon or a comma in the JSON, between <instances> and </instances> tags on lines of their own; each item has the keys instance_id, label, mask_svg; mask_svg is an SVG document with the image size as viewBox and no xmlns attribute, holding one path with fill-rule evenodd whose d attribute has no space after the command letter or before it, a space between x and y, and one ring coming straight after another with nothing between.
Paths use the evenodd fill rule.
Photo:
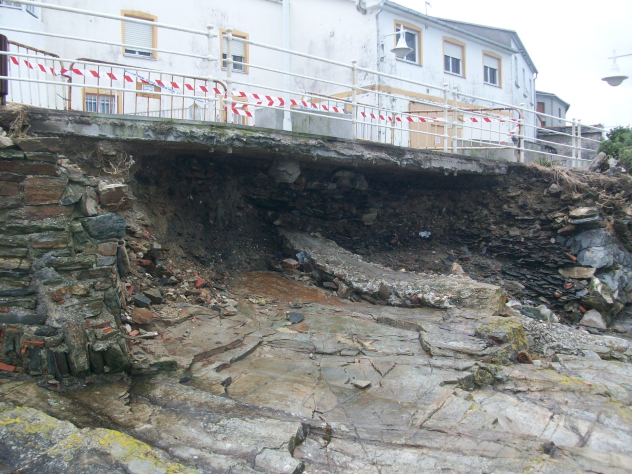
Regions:
<instances>
[{"instance_id":1,"label":"long white building with orange-framed windows behind the railing","mask_svg":"<svg viewBox=\"0 0 632 474\"><path fill-rule=\"evenodd\" d=\"M233 28L233 35L236 37L282 47L284 28L287 28L289 48L294 51L339 61L349 66L351 59L358 61L360 71L357 85L361 89L358 90L357 100L359 104L364 104L366 111L388 109L403 114L415 112L416 115L428 118L440 117L444 113L444 84L447 84L449 100L453 100L453 87L458 88L460 93L456 102L461 111L456 119L451 118L464 125L459 128L458 137L463 140L486 138L499 142L501 138L507 138L507 131L513 126L508 119L520 118L521 104L533 109L537 69L516 32L442 20L388 0L286 2L289 2L288 23L283 21L284 5L281 0L181 0L179 3L130 0L44 1L47 4L99 11L107 15L150 20L157 24L178 25L200 32L197 34L47 8L30 6L27 11L25 6L18 3L2 1L0 33L6 34L9 40L63 58L62 61L37 59L46 62L47 67L70 70L63 78L47 75L37 68L35 71L27 71L29 77L47 76L47 80L64 84L45 86L46 94L38 92L39 105L42 106L59 107L59 101L63 100L65 108L76 110L150 115L164 114L167 111L173 118L219 120L223 118L222 103L219 100L221 96L209 104L203 100L179 98L178 95L181 91L192 95L194 90L195 95L207 97L208 94L200 90L200 87L208 89L214 86L221 88L223 92L222 87L226 85L226 62L221 58L226 58L226 39L222 33L227 28ZM219 36L209 40L202 34L207 31L207 25L214 25L214 31ZM17 33L6 28L40 31L47 35ZM413 51L406 58L400 59L390 50L398 39L398 35L393 33L401 28L406 30L406 43ZM68 36L90 38L92 41L64 39ZM126 46L122 46L123 44ZM178 51L179 54L167 51ZM206 59L209 55L214 59ZM233 41L231 56L238 63L246 63L233 65L232 90L283 95L286 99L304 97L311 102L327 101L329 104L336 99L351 100L349 68L293 56L289 65L292 73L326 78L329 83L293 76L289 82L289 90L295 95L289 95L272 90L284 89L286 85L283 74L278 72L284 69L283 53ZM85 65L71 61L75 59L112 64ZM22 63L9 65L14 68L14 75L25 76ZM88 73L76 75L71 72L73 68L88 70ZM362 69L398 76L403 80L375 75ZM90 75L89 71L93 70L97 71L99 78ZM209 77L216 78L221 83L207 82ZM425 87L406 82L407 80L434 87ZM68 83L83 87L71 88ZM174 88L174 83L179 87ZM190 86L189 89L186 88L187 85ZM13 100L25 102L25 96L33 96L33 87L41 87L33 83L23 83L21 86L20 94L14 86ZM30 87L30 91L25 92L25 86ZM173 93L175 96L160 95L161 93ZM46 100L49 100L48 104L44 103ZM490 101L511 107L501 107ZM472 123L477 123L476 118L480 118L482 114L495 116L499 121L481 124L480 130L469 128ZM502 119L507 121L500 121ZM524 119L535 125L534 114L528 114ZM378 122L379 120L375 123ZM398 145L442 148L442 137L408 133L408 128L410 126L415 130L448 135L443 130L444 124L439 122L391 123L390 127L387 123L382 125L364 128L359 125L359 137ZM525 135L535 136L535 131L526 129Z\"/></svg>"}]
</instances>

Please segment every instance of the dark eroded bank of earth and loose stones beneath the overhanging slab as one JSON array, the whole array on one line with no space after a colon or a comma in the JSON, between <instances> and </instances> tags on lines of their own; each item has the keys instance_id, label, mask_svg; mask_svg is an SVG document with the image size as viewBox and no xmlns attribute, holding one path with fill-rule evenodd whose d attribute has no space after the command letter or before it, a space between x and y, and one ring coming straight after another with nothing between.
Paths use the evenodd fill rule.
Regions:
<instances>
[{"instance_id":1,"label":"dark eroded bank of earth and loose stones beneath the overhanging slab","mask_svg":"<svg viewBox=\"0 0 632 474\"><path fill-rule=\"evenodd\" d=\"M152 202L185 210L197 226L193 233L186 228L185 245L212 242L207 253L228 255L230 270L248 269L236 243L256 220L267 224L262 233L320 233L396 270L445 274L458 262L478 281L502 286L538 319L555 319L552 309L578 323L594 309L605 326L632 301L631 189L624 176L514 166L498 177L389 179L288 159L272 166L233 159L229 166L214 158L145 164L141 157L137 194L142 199L151 190ZM226 189L234 190L230 199ZM185 225L179 222L178 233ZM317 280L332 286L332 278ZM543 304L548 312L538 308Z\"/></svg>"}]
</instances>

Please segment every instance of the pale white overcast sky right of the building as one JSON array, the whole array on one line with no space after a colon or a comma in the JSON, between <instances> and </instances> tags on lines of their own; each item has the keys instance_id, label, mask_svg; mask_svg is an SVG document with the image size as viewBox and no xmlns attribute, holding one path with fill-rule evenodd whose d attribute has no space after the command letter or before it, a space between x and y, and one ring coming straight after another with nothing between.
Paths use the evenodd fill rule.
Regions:
<instances>
[{"instance_id":1,"label":"pale white overcast sky right of the building","mask_svg":"<svg viewBox=\"0 0 632 474\"><path fill-rule=\"evenodd\" d=\"M425 13L425 0L394 0ZM617 59L630 76L619 87L609 75L612 50L632 53L630 0L430 0L428 15L518 32L538 69L537 90L571 104L567 119L632 126L632 56Z\"/></svg>"}]
</instances>

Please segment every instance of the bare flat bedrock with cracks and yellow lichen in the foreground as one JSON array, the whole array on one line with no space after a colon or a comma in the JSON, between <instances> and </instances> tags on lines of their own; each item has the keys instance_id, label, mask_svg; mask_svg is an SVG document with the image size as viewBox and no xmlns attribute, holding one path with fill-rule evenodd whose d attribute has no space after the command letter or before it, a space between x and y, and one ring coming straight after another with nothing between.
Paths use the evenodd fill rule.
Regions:
<instances>
[{"instance_id":1,"label":"bare flat bedrock with cracks and yellow lichen in the foreground","mask_svg":"<svg viewBox=\"0 0 632 474\"><path fill-rule=\"evenodd\" d=\"M629 341L489 309L352 303L265 272L233 290L236 315L165 307L149 325L159 336L134 343L147 359L176 360L174 372L59 392L1 379L0 465L629 472ZM304 319L292 324L291 312Z\"/></svg>"}]
</instances>

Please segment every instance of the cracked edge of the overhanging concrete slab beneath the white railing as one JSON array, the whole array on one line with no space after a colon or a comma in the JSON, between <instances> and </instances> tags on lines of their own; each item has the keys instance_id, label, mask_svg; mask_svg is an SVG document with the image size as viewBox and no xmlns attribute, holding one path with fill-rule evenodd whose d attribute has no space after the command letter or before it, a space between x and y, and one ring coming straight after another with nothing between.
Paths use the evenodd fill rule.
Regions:
<instances>
[{"instance_id":1,"label":"cracked edge of the overhanging concrete slab beneath the white railing","mask_svg":"<svg viewBox=\"0 0 632 474\"><path fill-rule=\"evenodd\" d=\"M214 149L225 153L254 155L274 150L309 163L401 169L419 173L506 174L509 162L424 149L396 147L387 143L315 137L272 129L135 116L112 116L77 111L28 107L30 132L56 137L99 138L126 142L178 143L179 149ZM0 120L7 121L0 114Z\"/></svg>"}]
</instances>

